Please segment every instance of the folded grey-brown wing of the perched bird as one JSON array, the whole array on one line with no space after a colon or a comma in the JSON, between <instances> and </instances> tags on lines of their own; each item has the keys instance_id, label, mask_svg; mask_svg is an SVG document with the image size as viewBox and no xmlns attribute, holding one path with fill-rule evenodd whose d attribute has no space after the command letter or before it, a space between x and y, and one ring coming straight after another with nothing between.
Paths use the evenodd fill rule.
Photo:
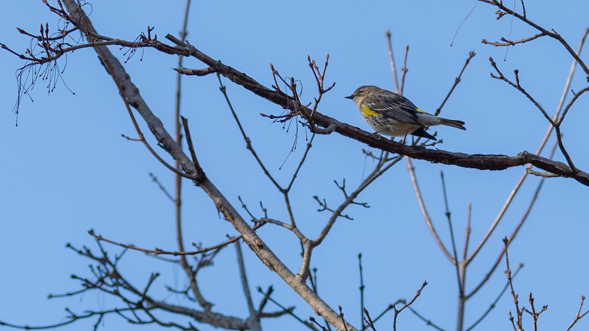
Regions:
<instances>
[{"instance_id":1,"label":"folded grey-brown wing of the perched bird","mask_svg":"<svg viewBox=\"0 0 589 331\"><path fill-rule=\"evenodd\" d=\"M369 110L378 112L386 117L423 127L423 124L417 120L417 107L402 95L372 94L364 99L363 104Z\"/></svg>"}]
</instances>

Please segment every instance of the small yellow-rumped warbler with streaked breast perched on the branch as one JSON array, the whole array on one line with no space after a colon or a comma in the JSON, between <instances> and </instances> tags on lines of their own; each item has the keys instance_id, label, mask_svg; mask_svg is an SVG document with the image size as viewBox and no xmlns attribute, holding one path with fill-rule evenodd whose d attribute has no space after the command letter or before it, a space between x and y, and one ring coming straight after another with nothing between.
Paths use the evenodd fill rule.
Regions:
<instances>
[{"instance_id":1,"label":"small yellow-rumped warbler with streaked breast perched on the branch","mask_svg":"<svg viewBox=\"0 0 589 331\"><path fill-rule=\"evenodd\" d=\"M417 108L408 98L376 86L359 87L346 98L356 103L366 123L379 134L393 137L405 137L412 134L437 140L433 135L425 132L428 127L442 124L466 130L463 121L448 120L428 114Z\"/></svg>"}]
</instances>

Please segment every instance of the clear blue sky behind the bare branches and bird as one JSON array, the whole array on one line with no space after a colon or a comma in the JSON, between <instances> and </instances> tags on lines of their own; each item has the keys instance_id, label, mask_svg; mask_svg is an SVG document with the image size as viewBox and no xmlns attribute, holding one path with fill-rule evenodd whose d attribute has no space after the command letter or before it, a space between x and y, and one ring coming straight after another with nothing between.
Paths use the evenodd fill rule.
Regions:
<instances>
[{"instance_id":1,"label":"clear blue sky behind the bare branches and bird","mask_svg":"<svg viewBox=\"0 0 589 331\"><path fill-rule=\"evenodd\" d=\"M158 39L167 33L178 35L184 1L93 1L91 19L98 32L110 37L133 40L147 26L155 27ZM573 48L589 25L587 1L527 2L527 15L546 28L554 28ZM495 8L478 4L459 29L458 25L475 1L299 1L299 2L201 2L194 1L188 24L188 41L213 58L246 72L269 86L273 83L269 63L283 76L296 77L303 85L302 100L315 97L315 80L307 66L307 55L323 63L329 52L329 82L336 87L326 94L319 111L337 120L369 130L355 105L343 97L363 84L394 88L387 54L385 31L393 35L398 62L409 44L405 95L423 110L434 111L454 82L468 52L477 56L466 69L461 84L446 104L443 115L466 122L467 131L439 128L444 144L438 147L471 154L515 155L535 151L547 129L547 122L524 96L501 81L489 77L492 56L506 75L520 72L521 84L552 114L571 65L570 56L553 39L509 48L481 44L510 34L510 18L495 19ZM517 1L517 8L519 7ZM519 10L519 9L518 9ZM39 0L6 2L0 11L0 42L24 52L29 38L15 27L35 33L39 24L49 22L52 31L57 18ZM512 39L530 37L536 31L514 21ZM124 59L118 47L111 50ZM584 51L581 57L589 61ZM143 59L143 61L140 61ZM138 86L151 110L173 130L177 58L151 49L139 50L125 68ZM137 246L175 249L173 204L150 181L153 172L168 190L173 175L159 164L140 143L121 138L134 137L134 128L111 78L91 49L67 57L67 67L55 91L47 93L47 82L37 87L21 103L18 127L13 109L16 101L16 68L24 62L6 51L0 52L0 320L21 325L47 325L64 320L65 306L75 312L107 309L118 304L101 293L82 297L47 300L48 293L64 293L80 288L70 274L90 276L83 257L64 248L87 245L97 249L86 231L95 229L112 240ZM65 62L61 62L63 66ZM189 68L202 64L187 59ZM587 85L583 75L574 78L571 88ZM247 134L280 183L287 183L302 157L305 140L282 170L289 154L294 131L272 124L259 112L280 114L282 110L249 91L225 80ZM67 87L66 87L67 85ZM72 95L68 91L75 92ZM575 164L587 171L587 96L578 100L565 120L564 141ZM214 75L183 79L183 114L190 120L201 164L227 198L239 207L241 196L260 216L259 201L269 216L286 220L283 201L263 176L219 92ZM143 125L145 132L147 128ZM155 145L152 137L148 137ZM292 200L298 224L315 237L328 215L317 213L312 196L326 198L337 206L342 195L333 180L346 178L354 188L373 166L362 154L365 145L337 134L316 137L309 160L293 188ZM158 151L161 151L158 149ZM373 150L375 151L375 150ZM161 151L163 152L163 151ZM376 151L375 151L376 152ZM163 153L161 153L164 155ZM557 153L558 160L562 156ZM167 158L169 160L169 158ZM416 172L429 212L446 243L448 230L444 217L440 171L444 171L449 204L454 218L458 246L464 241L466 210L472 203L471 247L478 244L524 167L506 171L479 171L415 161ZM501 238L511 233L530 201L539 179L528 178L514 204L485 249L473 263L467 279L472 289L488 271L501 250ZM184 231L186 242L203 246L216 244L225 234L236 234L217 217L211 201L196 187L185 182ZM520 302L533 292L537 307L548 304L540 317L544 330L565 329L573 320L581 295L589 294L586 252L587 187L567 178L545 181L537 204L509 254L513 265L525 263L515 280ZM341 305L349 321L359 325L359 276L357 254L363 253L366 283L365 304L377 315L389 303L410 298L428 280L422 296L413 307L444 329L455 328L457 284L455 269L436 246L419 212L406 164L403 161L372 184L359 197L369 209L351 206L346 213L354 220L339 220L322 246L315 250L312 266L317 267L319 292L325 300ZM245 214L245 213L244 213ZM267 225L260 230L267 244L288 266L298 270L299 244L288 231ZM120 251L105 245L109 251ZM271 273L244 246L250 285L266 288L273 284L274 297L285 306L297 306L297 315L306 319L311 309L279 277ZM214 267L203 270L199 280L204 295L227 315L245 317L236 254L233 247L221 251ZM169 294L164 286L183 287L186 280L178 266L143 254L128 252L121 262L125 276L143 286L149 274L160 272L153 296L174 304L187 304ZM504 264L487 286L469 301L466 325L478 319L505 284ZM255 292L255 291L254 291ZM254 300L261 296L256 293ZM118 304L120 306L120 304ZM269 310L278 309L269 304ZM478 330L509 329L508 310L514 310L506 295ZM530 328L530 318L527 327ZM186 319L180 319L186 321ZM81 321L66 330L90 329L94 320ZM377 325L392 329L392 315ZM428 329L410 312L399 317L399 330ZM107 317L104 330L156 330L157 326L130 326L115 316ZM268 330L303 329L290 317L264 320ZM589 320L575 327L587 329ZM202 330L211 327L202 326Z\"/></svg>"}]
</instances>

